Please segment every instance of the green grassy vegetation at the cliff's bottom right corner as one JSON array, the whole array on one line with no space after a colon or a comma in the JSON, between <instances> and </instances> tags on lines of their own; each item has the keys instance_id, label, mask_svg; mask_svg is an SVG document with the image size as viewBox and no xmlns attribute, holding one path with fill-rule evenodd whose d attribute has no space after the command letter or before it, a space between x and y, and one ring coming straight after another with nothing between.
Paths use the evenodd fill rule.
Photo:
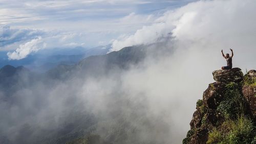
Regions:
<instances>
[{"instance_id":1,"label":"green grassy vegetation at the cliff's bottom right corner","mask_svg":"<svg viewBox=\"0 0 256 144\"><path fill-rule=\"evenodd\" d=\"M252 121L244 115L236 120L228 119L218 129L209 133L206 143L253 143L255 142L255 126Z\"/></svg>"}]
</instances>

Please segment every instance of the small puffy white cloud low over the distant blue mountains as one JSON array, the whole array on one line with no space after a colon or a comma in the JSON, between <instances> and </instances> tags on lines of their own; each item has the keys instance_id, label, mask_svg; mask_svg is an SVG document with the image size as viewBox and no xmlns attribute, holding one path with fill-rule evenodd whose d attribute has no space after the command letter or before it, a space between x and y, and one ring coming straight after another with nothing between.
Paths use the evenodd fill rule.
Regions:
<instances>
[{"instance_id":1,"label":"small puffy white cloud low over the distant blue mountains","mask_svg":"<svg viewBox=\"0 0 256 144\"><path fill-rule=\"evenodd\" d=\"M41 37L32 39L25 44L20 44L19 48L14 52L8 52L8 59L10 60L19 60L26 58L29 54L35 53L40 49L44 49L46 47L46 43L42 41Z\"/></svg>"}]
</instances>

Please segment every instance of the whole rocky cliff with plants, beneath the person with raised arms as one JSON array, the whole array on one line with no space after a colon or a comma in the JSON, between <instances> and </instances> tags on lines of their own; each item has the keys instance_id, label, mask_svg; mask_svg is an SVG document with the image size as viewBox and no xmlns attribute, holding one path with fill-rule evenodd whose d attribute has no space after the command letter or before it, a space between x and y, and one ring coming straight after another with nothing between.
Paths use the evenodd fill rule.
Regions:
<instances>
[{"instance_id":1,"label":"whole rocky cliff with plants, beneath the person with raised arms","mask_svg":"<svg viewBox=\"0 0 256 144\"><path fill-rule=\"evenodd\" d=\"M183 143L256 143L256 70L215 70Z\"/></svg>"}]
</instances>

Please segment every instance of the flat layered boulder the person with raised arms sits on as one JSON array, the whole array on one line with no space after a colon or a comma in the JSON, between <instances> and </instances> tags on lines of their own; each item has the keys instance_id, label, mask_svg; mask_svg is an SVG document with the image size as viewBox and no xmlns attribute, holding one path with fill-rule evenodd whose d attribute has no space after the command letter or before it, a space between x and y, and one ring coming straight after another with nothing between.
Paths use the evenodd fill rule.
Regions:
<instances>
[{"instance_id":1,"label":"flat layered boulder the person with raised arms sits on","mask_svg":"<svg viewBox=\"0 0 256 144\"><path fill-rule=\"evenodd\" d=\"M214 80L217 82L229 83L229 82L241 82L244 79L243 73L240 68L221 69L212 72Z\"/></svg>"}]
</instances>

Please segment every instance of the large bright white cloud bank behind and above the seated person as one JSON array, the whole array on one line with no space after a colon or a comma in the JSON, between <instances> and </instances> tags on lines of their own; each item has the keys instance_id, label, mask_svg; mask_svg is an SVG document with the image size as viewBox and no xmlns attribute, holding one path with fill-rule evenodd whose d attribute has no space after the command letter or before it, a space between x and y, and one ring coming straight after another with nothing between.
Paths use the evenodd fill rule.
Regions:
<instances>
[{"instance_id":1,"label":"large bright white cloud bank behind and above the seated person","mask_svg":"<svg viewBox=\"0 0 256 144\"><path fill-rule=\"evenodd\" d=\"M112 51L124 46L154 43L161 37L175 37L184 43L219 43L220 47L243 46L241 41L254 37L255 33L251 31L255 28L255 20L250 18L255 17L252 6L255 6L253 1L236 0L190 3L165 12L156 20L157 23L143 27L133 35L114 40Z\"/></svg>"}]
</instances>

